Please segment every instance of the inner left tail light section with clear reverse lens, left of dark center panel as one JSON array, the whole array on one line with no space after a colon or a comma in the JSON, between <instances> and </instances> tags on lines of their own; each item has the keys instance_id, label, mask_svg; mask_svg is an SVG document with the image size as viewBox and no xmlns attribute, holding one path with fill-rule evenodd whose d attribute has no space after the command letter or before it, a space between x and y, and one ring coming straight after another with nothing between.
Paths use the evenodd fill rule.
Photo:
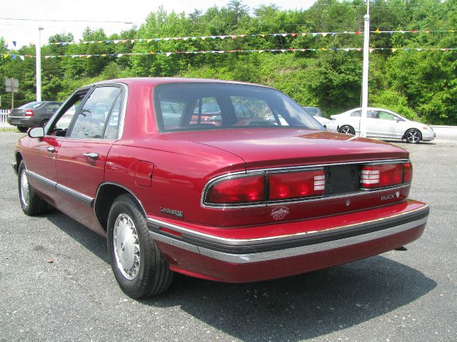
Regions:
<instances>
[{"instance_id":1,"label":"inner left tail light section with clear reverse lens, left of dark center panel","mask_svg":"<svg viewBox=\"0 0 457 342\"><path fill-rule=\"evenodd\" d=\"M291 199L323 195L325 175L323 170L281 172L268 176L268 199Z\"/></svg>"}]
</instances>

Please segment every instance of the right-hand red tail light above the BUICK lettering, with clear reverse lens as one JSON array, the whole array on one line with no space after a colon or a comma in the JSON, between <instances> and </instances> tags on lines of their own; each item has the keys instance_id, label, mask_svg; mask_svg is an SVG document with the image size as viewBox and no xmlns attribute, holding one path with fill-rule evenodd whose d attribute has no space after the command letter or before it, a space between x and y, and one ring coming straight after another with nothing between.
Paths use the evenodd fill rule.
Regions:
<instances>
[{"instance_id":1,"label":"right-hand red tail light above the BUICK lettering, with clear reverse lens","mask_svg":"<svg viewBox=\"0 0 457 342\"><path fill-rule=\"evenodd\" d=\"M399 162L381 165L363 165L360 182L363 189L389 187L411 182L413 167L411 162Z\"/></svg>"}]
</instances>

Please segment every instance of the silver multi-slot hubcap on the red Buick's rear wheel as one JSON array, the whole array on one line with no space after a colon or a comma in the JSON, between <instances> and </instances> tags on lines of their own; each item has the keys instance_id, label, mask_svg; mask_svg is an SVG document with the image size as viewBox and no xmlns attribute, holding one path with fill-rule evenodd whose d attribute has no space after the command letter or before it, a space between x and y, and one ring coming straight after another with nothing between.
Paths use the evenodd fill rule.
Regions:
<instances>
[{"instance_id":1,"label":"silver multi-slot hubcap on the red Buick's rear wheel","mask_svg":"<svg viewBox=\"0 0 457 342\"><path fill-rule=\"evenodd\" d=\"M140 269L140 245L134 221L119 214L114 222L114 254L116 264L126 279L133 280Z\"/></svg>"}]
</instances>

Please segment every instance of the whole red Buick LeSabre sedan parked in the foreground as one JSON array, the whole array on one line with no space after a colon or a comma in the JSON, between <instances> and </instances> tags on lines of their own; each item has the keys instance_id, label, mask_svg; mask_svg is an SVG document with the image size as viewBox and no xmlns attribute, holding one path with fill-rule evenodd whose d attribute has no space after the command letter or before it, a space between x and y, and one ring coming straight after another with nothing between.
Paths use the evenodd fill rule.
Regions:
<instances>
[{"instance_id":1,"label":"whole red Buick LeSabre sedan parked in the foreground","mask_svg":"<svg viewBox=\"0 0 457 342\"><path fill-rule=\"evenodd\" d=\"M51 204L106 236L134 298L165 291L174 272L261 281L370 257L418 239L428 218L408 199L408 152L328 133L283 93L246 83L80 88L19 140L13 166L25 214Z\"/></svg>"}]
</instances>

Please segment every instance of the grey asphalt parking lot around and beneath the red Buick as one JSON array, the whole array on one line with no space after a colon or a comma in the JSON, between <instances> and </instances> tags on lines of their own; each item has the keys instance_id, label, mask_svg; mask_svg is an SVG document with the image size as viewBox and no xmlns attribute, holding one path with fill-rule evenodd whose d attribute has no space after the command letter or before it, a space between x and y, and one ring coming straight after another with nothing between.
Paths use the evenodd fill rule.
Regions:
<instances>
[{"instance_id":1,"label":"grey asphalt parking lot around and beneath the red Buick","mask_svg":"<svg viewBox=\"0 0 457 342\"><path fill-rule=\"evenodd\" d=\"M177 276L166 294L119 289L106 242L60 212L26 217L0 132L0 341L457 341L457 129L409 145L423 237L287 279L220 284ZM52 260L54 262L46 262Z\"/></svg>"}]
</instances>

